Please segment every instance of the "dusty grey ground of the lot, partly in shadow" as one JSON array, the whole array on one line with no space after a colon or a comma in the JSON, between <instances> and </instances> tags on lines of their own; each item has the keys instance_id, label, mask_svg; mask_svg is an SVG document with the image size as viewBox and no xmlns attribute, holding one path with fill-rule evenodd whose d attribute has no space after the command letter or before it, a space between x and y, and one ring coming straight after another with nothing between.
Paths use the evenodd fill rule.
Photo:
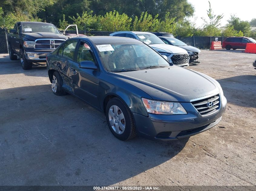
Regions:
<instances>
[{"instance_id":1,"label":"dusty grey ground of the lot, partly in shadow","mask_svg":"<svg viewBox=\"0 0 256 191\"><path fill-rule=\"evenodd\" d=\"M255 54L201 52L189 69L219 81L227 110L211 130L173 142L119 141L103 114L52 93L45 66L23 71L4 56L0 185L256 185Z\"/></svg>"}]
</instances>

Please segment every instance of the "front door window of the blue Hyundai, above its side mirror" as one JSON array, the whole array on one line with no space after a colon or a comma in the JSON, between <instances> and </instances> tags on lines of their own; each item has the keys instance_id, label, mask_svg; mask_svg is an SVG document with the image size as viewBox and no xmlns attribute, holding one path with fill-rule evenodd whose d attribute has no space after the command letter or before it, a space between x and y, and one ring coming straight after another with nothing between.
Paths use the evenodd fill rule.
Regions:
<instances>
[{"instance_id":1,"label":"front door window of the blue Hyundai, above its side mirror","mask_svg":"<svg viewBox=\"0 0 256 191\"><path fill-rule=\"evenodd\" d=\"M85 42L81 42L79 44L78 53L77 53L77 62L80 63L82 61L92 61L92 62L94 62L93 53L91 51L91 48Z\"/></svg>"}]
</instances>

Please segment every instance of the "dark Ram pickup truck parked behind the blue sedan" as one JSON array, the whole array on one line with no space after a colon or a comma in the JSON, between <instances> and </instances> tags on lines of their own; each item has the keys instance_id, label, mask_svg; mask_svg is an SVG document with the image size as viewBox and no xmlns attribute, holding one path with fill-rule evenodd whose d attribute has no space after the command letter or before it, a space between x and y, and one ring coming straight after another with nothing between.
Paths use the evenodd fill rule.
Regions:
<instances>
[{"instance_id":1,"label":"dark Ram pickup truck parked behind the blue sedan","mask_svg":"<svg viewBox=\"0 0 256 191\"><path fill-rule=\"evenodd\" d=\"M67 39L53 24L18 22L7 36L9 56L11 60L19 57L22 68L28 70L33 62L46 62L48 53Z\"/></svg>"}]
</instances>

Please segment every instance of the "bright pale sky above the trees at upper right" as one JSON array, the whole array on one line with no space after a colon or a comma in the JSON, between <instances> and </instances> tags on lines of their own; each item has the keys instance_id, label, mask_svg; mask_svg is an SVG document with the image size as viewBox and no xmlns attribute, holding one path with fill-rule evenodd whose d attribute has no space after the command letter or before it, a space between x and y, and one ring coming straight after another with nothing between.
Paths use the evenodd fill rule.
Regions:
<instances>
[{"instance_id":1,"label":"bright pale sky above the trees at upper right","mask_svg":"<svg viewBox=\"0 0 256 191\"><path fill-rule=\"evenodd\" d=\"M207 18L208 0L188 0L188 2L195 8L194 17L191 18L191 21L195 20L197 27L202 26L201 17ZM235 14L244 21L251 21L251 19L256 18L256 0L210 0L210 3L214 14L224 14L221 26L227 24L231 14Z\"/></svg>"}]
</instances>

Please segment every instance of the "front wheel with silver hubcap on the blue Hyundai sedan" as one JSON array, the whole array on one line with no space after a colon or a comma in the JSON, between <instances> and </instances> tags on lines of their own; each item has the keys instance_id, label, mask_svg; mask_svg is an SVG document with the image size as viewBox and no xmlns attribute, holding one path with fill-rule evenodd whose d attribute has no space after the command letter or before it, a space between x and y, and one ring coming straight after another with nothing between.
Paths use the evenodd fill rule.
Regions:
<instances>
[{"instance_id":1,"label":"front wheel with silver hubcap on the blue Hyundai sedan","mask_svg":"<svg viewBox=\"0 0 256 191\"><path fill-rule=\"evenodd\" d=\"M116 138L126 141L136 136L135 121L122 100L116 97L109 100L105 114L108 127Z\"/></svg>"}]
</instances>

